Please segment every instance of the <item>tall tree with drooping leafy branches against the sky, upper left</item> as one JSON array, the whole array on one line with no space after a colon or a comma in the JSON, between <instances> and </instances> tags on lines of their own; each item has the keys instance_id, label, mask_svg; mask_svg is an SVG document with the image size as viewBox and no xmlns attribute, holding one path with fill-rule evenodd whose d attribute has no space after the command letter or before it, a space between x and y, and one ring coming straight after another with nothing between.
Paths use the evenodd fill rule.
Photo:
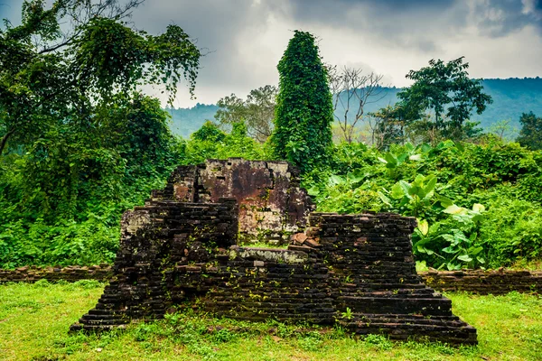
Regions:
<instances>
[{"instance_id":1,"label":"tall tree with drooping leafy branches against the sky, upper left","mask_svg":"<svg viewBox=\"0 0 542 361\"><path fill-rule=\"evenodd\" d=\"M94 106L164 85L173 100L184 78L191 92L201 52L179 26L153 36L123 19L143 0L23 2L22 23L0 29L0 154L31 144L50 126L93 118ZM71 23L73 26L61 26Z\"/></svg>"}]
</instances>

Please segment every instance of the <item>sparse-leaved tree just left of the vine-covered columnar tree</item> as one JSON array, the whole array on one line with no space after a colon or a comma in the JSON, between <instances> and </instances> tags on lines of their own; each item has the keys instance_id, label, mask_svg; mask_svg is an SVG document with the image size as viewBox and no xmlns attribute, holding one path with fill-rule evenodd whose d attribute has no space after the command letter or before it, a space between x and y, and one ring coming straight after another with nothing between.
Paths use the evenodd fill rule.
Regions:
<instances>
[{"instance_id":1,"label":"sparse-leaved tree just left of the vine-covered columnar tree","mask_svg":"<svg viewBox=\"0 0 542 361\"><path fill-rule=\"evenodd\" d=\"M244 122L248 135L257 142L264 143L273 132L277 93L275 86L266 85L251 90L246 100L235 94L222 97L217 102L219 110L215 119L222 127Z\"/></svg>"}]
</instances>

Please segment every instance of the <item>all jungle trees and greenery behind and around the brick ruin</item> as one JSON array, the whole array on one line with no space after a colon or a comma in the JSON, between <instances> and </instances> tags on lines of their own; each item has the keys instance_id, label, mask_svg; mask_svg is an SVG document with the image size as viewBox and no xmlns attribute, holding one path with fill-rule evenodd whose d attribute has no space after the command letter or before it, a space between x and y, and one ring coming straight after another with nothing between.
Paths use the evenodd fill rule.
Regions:
<instances>
[{"instance_id":1,"label":"all jungle trees and greenery behind and around the brick ruin","mask_svg":"<svg viewBox=\"0 0 542 361\"><path fill-rule=\"evenodd\" d=\"M252 128L243 118L229 122L228 132L207 122L182 139L171 133L159 101L137 91L151 83L174 97L181 79L193 91L201 52L180 27L170 25L158 36L135 31L122 21L129 8L115 1L97 3L102 8L58 0L49 10L41 0L24 4L23 24L0 29L2 268L112 262L124 211L162 188L175 165L228 157L294 162L321 211L417 218L413 245L420 264L500 267L542 258L542 151L535 150L542 118L529 113L520 119L519 141L530 148L464 132L472 130L463 126L480 105L476 99L491 99L478 80L468 78L463 60L446 71L444 83L451 88L429 82L404 97L416 110L408 114L435 108L438 102L430 98L443 110L461 80L473 96L458 98L464 103L460 116L424 123L434 135L442 130L436 129L439 122L446 131L453 125L462 134L455 141L441 132L432 144L415 145L386 133L380 150L331 143L327 70L307 32L294 32L279 63L275 133L266 142L248 136ZM117 15L101 16L107 6L108 14ZM79 20L71 34L61 33L65 16ZM435 65L450 68L440 60L429 64L422 72L431 77ZM418 121L404 115L384 120L401 134L408 122ZM413 129L420 132L413 139L426 138L427 129Z\"/></svg>"}]
</instances>

